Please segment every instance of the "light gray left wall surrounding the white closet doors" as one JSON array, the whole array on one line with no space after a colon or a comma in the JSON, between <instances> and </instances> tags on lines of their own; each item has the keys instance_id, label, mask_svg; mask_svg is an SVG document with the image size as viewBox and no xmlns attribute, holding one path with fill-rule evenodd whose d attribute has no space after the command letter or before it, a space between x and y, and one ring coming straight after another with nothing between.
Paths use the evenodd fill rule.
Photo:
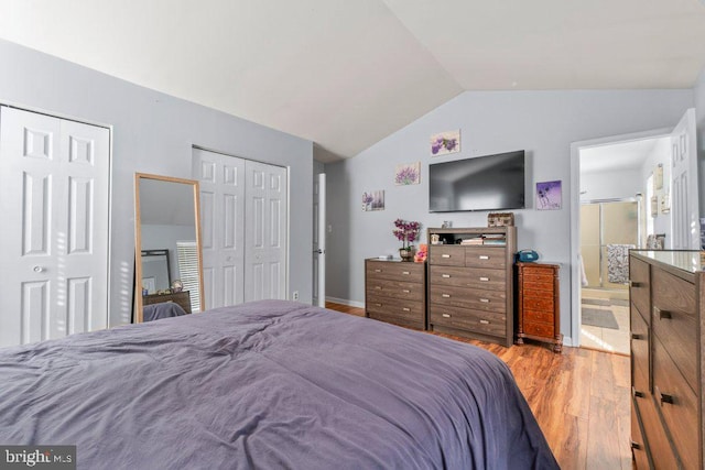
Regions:
<instances>
[{"instance_id":1,"label":"light gray left wall surrounding the white closet doors","mask_svg":"<svg viewBox=\"0 0 705 470\"><path fill-rule=\"evenodd\" d=\"M112 127L110 325L132 307L133 175L191 178L192 145L290 167L290 292L311 302L312 142L6 41L0 63L0 102Z\"/></svg>"}]
</instances>

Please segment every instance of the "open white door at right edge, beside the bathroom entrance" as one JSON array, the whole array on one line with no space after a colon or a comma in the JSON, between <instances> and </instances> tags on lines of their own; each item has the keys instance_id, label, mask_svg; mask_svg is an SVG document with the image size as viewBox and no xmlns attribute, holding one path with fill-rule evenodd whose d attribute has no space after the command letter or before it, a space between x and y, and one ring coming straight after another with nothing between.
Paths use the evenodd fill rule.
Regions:
<instances>
[{"instance_id":1,"label":"open white door at right edge, beside the bathroom entrance","mask_svg":"<svg viewBox=\"0 0 705 470\"><path fill-rule=\"evenodd\" d=\"M675 250L699 250L695 109L685 111L671 133L671 223Z\"/></svg>"}]
</instances>

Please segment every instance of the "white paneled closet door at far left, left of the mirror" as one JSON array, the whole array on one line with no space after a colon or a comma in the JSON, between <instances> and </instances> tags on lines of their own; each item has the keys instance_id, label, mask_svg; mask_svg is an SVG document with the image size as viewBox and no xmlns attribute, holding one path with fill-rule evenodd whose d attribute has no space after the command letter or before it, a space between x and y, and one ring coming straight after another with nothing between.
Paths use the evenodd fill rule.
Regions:
<instances>
[{"instance_id":1,"label":"white paneled closet door at far left, left of the mirror","mask_svg":"<svg viewBox=\"0 0 705 470\"><path fill-rule=\"evenodd\" d=\"M0 347L107 326L110 131L0 107Z\"/></svg>"}]
</instances>

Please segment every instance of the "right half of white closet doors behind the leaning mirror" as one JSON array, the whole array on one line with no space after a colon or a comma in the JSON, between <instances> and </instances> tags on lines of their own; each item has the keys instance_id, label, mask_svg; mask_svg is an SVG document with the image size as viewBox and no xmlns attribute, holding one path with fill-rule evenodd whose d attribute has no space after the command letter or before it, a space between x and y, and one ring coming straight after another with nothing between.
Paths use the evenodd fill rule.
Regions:
<instances>
[{"instance_id":1,"label":"right half of white closet doors behind the leaning mirror","mask_svg":"<svg viewBox=\"0 0 705 470\"><path fill-rule=\"evenodd\" d=\"M245 300L286 298L286 168L246 161Z\"/></svg>"}]
</instances>

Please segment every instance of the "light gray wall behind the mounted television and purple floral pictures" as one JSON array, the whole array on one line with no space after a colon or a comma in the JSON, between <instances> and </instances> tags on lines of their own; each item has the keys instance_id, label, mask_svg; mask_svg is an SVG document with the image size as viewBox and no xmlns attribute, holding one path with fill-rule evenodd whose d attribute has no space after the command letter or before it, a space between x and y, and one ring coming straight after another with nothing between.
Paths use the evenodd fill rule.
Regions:
<instances>
[{"instance_id":1,"label":"light gray wall behind the mounted television and purple floral pictures","mask_svg":"<svg viewBox=\"0 0 705 470\"><path fill-rule=\"evenodd\" d=\"M397 218L425 228L484 227L487 212L429 214L430 162L524 149L528 208L516 210L518 249L562 263L561 321L571 332L571 143L675 125L693 106L693 90L468 91L354 159L326 164L328 178L327 295L361 305L364 260L397 252ZM460 129L462 152L431 157L433 133ZM394 186L394 167L421 162L421 184ZM535 183L561 179L563 208L535 210ZM361 210L366 190L386 190L386 210ZM424 236L425 241L425 236Z\"/></svg>"}]
</instances>

